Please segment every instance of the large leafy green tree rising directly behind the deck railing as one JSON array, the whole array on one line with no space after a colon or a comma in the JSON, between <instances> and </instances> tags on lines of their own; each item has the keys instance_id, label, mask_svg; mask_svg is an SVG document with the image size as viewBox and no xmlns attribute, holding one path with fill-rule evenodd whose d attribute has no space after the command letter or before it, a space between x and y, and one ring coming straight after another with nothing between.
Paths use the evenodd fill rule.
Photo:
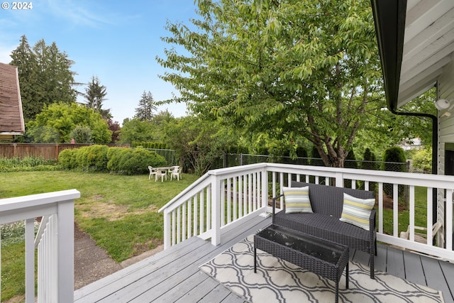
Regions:
<instances>
[{"instance_id":1,"label":"large leafy green tree rising directly behind the deck railing","mask_svg":"<svg viewBox=\"0 0 454 303\"><path fill-rule=\"evenodd\" d=\"M370 1L196 1L200 20L167 25L181 48L157 61L196 114L248 133L314 143L343 167L380 96Z\"/></svg>"}]
</instances>

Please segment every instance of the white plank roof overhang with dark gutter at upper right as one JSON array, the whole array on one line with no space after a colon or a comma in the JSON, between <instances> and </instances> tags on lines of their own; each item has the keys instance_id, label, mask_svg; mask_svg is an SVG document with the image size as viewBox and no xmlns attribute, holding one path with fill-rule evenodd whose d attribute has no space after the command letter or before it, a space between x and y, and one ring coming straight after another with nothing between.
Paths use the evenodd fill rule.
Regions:
<instances>
[{"instance_id":1,"label":"white plank roof overhang with dark gutter at upper right","mask_svg":"<svg viewBox=\"0 0 454 303\"><path fill-rule=\"evenodd\" d=\"M390 109L436 84L454 53L453 0L371 0Z\"/></svg>"}]
</instances>

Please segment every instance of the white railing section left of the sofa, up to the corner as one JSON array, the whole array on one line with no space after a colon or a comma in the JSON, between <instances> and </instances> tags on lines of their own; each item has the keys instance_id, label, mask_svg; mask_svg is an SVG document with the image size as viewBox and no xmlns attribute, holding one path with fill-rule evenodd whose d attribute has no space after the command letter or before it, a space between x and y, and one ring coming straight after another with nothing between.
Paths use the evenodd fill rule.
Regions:
<instances>
[{"instance_id":1,"label":"white railing section left of the sofa, up to the corner","mask_svg":"<svg viewBox=\"0 0 454 303\"><path fill-rule=\"evenodd\" d=\"M211 238L217 245L221 231L263 212L267 196L262 165L211 170L159 210L164 213L164 247L192 236Z\"/></svg>"}]
</instances>

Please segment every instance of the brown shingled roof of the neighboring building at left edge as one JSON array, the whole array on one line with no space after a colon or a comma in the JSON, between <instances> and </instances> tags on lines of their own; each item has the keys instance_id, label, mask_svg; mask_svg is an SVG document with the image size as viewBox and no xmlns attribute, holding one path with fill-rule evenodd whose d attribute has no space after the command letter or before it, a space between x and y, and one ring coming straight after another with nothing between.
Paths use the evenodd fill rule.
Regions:
<instances>
[{"instance_id":1,"label":"brown shingled roof of the neighboring building at left edge","mask_svg":"<svg viewBox=\"0 0 454 303\"><path fill-rule=\"evenodd\" d=\"M0 63L0 135L23 135L21 91L18 69L13 65Z\"/></svg>"}]
</instances>

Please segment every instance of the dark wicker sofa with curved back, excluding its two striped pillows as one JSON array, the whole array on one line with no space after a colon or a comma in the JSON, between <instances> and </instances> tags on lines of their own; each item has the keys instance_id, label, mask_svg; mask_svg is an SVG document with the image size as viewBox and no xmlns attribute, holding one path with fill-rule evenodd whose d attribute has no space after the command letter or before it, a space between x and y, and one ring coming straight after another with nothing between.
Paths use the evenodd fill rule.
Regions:
<instances>
[{"instance_id":1,"label":"dark wicker sofa with curved back, excluding its two striped pillows","mask_svg":"<svg viewBox=\"0 0 454 303\"><path fill-rule=\"evenodd\" d=\"M314 214L275 212L276 200L283 194L272 199L272 222L280 226L309 233L319 238L341 243L349 248L365 251L370 255L370 277L374 278L374 255L377 251L377 233L375 231L375 209L369 218L370 230L340 221L343 211L343 193L360 199L375 198L374 192L360 189L333 187L292 181L292 187L309 185L309 199Z\"/></svg>"}]
</instances>

